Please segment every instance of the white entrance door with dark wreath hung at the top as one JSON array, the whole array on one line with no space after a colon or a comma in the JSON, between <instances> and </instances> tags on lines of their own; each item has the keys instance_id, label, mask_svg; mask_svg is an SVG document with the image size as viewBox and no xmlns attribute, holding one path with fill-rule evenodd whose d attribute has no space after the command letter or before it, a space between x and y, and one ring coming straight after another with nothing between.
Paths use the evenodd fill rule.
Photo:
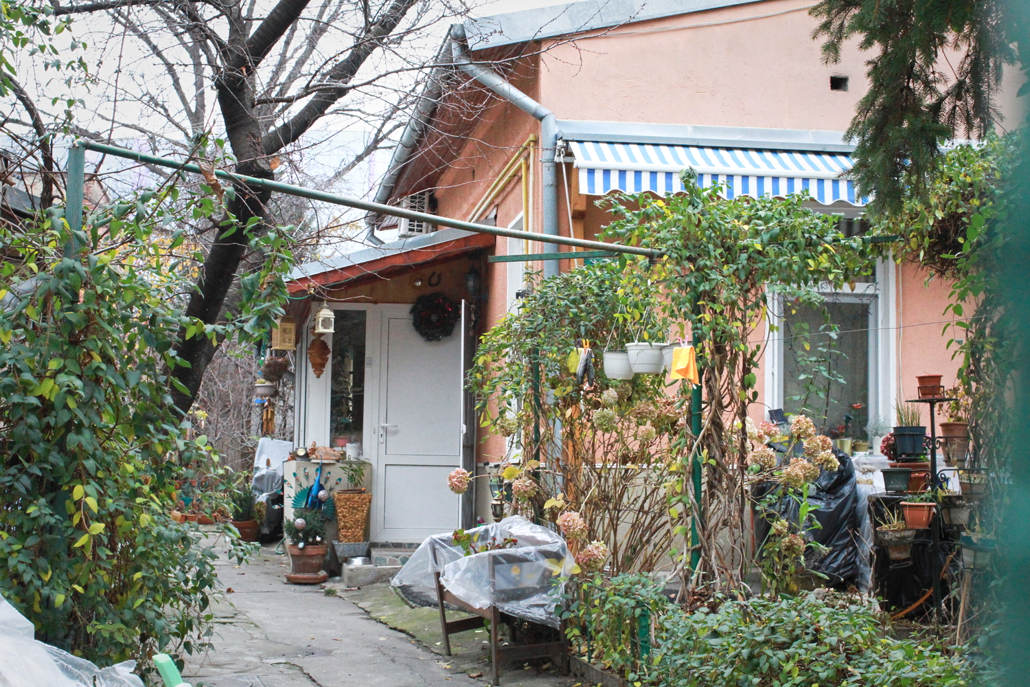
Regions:
<instances>
[{"instance_id":1,"label":"white entrance door with dark wreath hung at the top","mask_svg":"<svg viewBox=\"0 0 1030 687\"><path fill-rule=\"evenodd\" d=\"M460 526L447 475L461 465L464 322L427 342L410 305L383 305L372 541L421 542ZM368 436L368 435L366 435Z\"/></svg>"}]
</instances>

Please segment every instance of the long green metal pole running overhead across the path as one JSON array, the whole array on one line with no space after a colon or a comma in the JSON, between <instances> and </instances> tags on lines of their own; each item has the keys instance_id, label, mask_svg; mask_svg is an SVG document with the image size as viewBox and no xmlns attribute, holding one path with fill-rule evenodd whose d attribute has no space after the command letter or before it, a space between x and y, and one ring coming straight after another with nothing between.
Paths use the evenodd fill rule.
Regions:
<instances>
[{"instance_id":1,"label":"long green metal pole running overhead across the path","mask_svg":"<svg viewBox=\"0 0 1030 687\"><path fill-rule=\"evenodd\" d=\"M168 158L148 156L142 152L136 152L135 150L119 148L114 145L105 145L103 143L94 143L92 141L76 141L75 145L81 146L81 148L85 150L103 152L109 156L114 156L116 158L125 158L126 160L134 160L136 162L146 163L147 165L169 167L171 169L176 169L183 172L192 172L194 174L203 173L201 168L197 165L191 165L188 163L180 163L175 160L169 160ZM324 191L305 188L304 186L296 186L291 183L282 183L281 181L273 181L271 179L259 179L258 177L254 176L234 174L232 172L227 172L220 169L214 170L214 175L217 176L218 178L227 179L229 181L239 181L241 183L247 184L248 186L268 188L269 191L276 191L283 194L289 194L290 196L308 198L310 200L321 201L323 203L333 203L334 205L343 205L345 207L352 207L357 210L366 210L368 212L374 212L377 214L388 214L394 217L405 217L407 219L414 219L416 221L425 221L431 225L439 227L450 227L451 229L460 229L467 232L475 232L477 234L491 234L493 236L506 236L508 238L523 239L526 241L543 241L545 238L542 234L534 234L533 232L519 232L513 229L504 229L502 227L488 227L486 225L477 225L475 222L462 221L460 219L451 219L450 217L442 217L440 215L430 214L427 212L416 212L415 210L408 210L405 208L394 207L392 205L383 205L382 203L373 203L371 201L363 201L356 198L347 198L345 196L337 196L336 194L328 194ZM592 250L605 250L608 252L623 252L632 255L644 255L646 257L655 257L655 259L661 257L662 255L662 252L660 250L655 250L654 248L623 246L617 243L605 243L603 241L587 241L585 239L575 239L575 238L570 238L568 236L551 236L549 234L547 235L546 239L547 243L558 243L565 246L575 246L577 248L590 248Z\"/></svg>"}]
</instances>

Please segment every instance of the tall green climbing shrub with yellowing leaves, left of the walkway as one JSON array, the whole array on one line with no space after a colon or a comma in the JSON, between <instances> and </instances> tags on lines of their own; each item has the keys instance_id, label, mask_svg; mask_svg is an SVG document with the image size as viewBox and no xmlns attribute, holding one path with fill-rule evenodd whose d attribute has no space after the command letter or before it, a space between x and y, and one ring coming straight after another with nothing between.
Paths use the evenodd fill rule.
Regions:
<instances>
[{"instance_id":1,"label":"tall green climbing shrub with yellowing leaves, left of the walkway","mask_svg":"<svg viewBox=\"0 0 1030 687\"><path fill-rule=\"evenodd\" d=\"M0 225L0 593L37 639L102 665L211 634L216 553L168 515L179 487L222 472L169 393L179 333L217 334L181 310L182 233L157 229L175 198L99 209L74 235L60 209ZM186 207L221 212L208 205Z\"/></svg>"}]
</instances>

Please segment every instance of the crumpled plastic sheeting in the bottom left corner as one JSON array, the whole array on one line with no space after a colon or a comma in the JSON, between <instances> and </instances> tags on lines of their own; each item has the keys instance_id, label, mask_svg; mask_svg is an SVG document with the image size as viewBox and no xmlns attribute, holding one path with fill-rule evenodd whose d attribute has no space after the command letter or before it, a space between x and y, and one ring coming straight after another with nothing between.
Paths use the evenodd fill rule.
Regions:
<instances>
[{"instance_id":1,"label":"crumpled plastic sheeting in the bottom left corner","mask_svg":"<svg viewBox=\"0 0 1030 687\"><path fill-rule=\"evenodd\" d=\"M38 642L32 623L0 597L0 687L143 687L136 661L99 668Z\"/></svg>"}]
</instances>

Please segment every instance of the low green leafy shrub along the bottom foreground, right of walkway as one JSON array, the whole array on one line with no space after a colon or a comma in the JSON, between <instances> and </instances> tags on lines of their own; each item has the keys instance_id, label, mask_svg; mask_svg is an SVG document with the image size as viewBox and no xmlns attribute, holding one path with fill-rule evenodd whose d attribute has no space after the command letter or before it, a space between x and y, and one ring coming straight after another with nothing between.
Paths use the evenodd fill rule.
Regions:
<instances>
[{"instance_id":1,"label":"low green leafy shrub along the bottom foreground, right of walkway","mask_svg":"<svg viewBox=\"0 0 1030 687\"><path fill-rule=\"evenodd\" d=\"M662 687L960 687L958 654L895 639L864 597L716 597L689 612L646 576L599 578L569 606L570 639L633 684ZM714 609L714 610L713 610ZM642 623L642 618L644 621Z\"/></svg>"}]
</instances>

